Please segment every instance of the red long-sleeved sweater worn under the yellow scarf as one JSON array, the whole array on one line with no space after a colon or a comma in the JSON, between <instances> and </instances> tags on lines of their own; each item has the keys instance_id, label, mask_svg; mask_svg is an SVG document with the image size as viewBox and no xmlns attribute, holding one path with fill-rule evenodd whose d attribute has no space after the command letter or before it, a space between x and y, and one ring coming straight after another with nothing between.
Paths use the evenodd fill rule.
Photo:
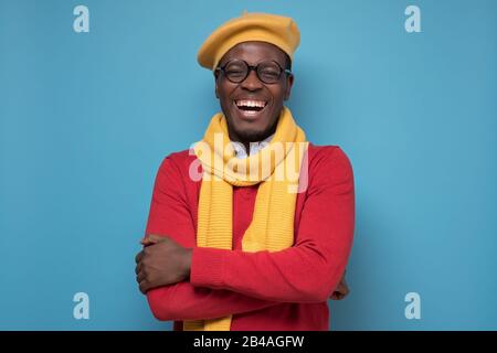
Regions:
<instances>
[{"instance_id":1,"label":"red long-sleeved sweater worn under the yellow scarf","mask_svg":"<svg viewBox=\"0 0 497 353\"><path fill-rule=\"evenodd\" d=\"M337 146L308 149L308 188L297 194L295 244L269 253L242 252L258 185L233 188L233 249L197 247L201 181L189 176L194 156L171 153L157 173L147 234L169 235L193 248L190 279L148 291L158 320L213 319L233 314L231 330L328 330L328 298L352 245L353 174Z\"/></svg>"}]
</instances>

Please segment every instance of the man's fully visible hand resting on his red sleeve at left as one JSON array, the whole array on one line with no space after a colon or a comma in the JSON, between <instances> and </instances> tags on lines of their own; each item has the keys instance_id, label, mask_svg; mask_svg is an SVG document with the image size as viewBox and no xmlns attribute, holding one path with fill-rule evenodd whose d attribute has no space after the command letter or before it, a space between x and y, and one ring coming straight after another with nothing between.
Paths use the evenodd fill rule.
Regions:
<instances>
[{"instance_id":1,"label":"man's fully visible hand resting on his red sleeve at left","mask_svg":"<svg viewBox=\"0 0 497 353\"><path fill-rule=\"evenodd\" d=\"M148 235L141 240L144 249L136 256L136 280L140 291L183 281L190 276L191 248L168 236Z\"/></svg>"}]
</instances>

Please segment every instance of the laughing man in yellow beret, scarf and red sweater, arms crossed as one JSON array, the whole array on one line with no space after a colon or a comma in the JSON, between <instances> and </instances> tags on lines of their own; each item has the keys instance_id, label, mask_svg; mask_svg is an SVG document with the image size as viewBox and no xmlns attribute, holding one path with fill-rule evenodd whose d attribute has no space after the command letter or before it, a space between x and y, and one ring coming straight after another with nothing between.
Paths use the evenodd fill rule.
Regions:
<instances>
[{"instance_id":1,"label":"laughing man in yellow beret, scarf and red sweater, arms crossed","mask_svg":"<svg viewBox=\"0 0 497 353\"><path fill-rule=\"evenodd\" d=\"M328 330L327 299L348 293L352 168L284 106L298 44L292 19L244 13L199 51L222 113L163 160L136 256L140 290L175 330Z\"/></svg>"}]
</instances>

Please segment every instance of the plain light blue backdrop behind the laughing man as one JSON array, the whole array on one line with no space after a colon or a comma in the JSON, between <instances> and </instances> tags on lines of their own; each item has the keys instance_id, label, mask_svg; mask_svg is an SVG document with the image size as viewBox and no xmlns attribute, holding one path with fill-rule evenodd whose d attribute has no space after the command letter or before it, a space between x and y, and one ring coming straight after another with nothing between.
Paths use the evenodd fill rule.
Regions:
<instances>
[{"instance_id":1,"label":"plain light blue backdrop behind the laughing man","mask_svg":"<svg viewBox=\"0 0 497 353\"><path fill-rule=\"evenodd\" d=\"M355 169L351 295L330 301L331 329L497 329L493 0L0 0L0 329L170 329L134 256L162 158L219 110L197 50L244 9L297 21L289 107Z\"/></svg>"}]
</instances>

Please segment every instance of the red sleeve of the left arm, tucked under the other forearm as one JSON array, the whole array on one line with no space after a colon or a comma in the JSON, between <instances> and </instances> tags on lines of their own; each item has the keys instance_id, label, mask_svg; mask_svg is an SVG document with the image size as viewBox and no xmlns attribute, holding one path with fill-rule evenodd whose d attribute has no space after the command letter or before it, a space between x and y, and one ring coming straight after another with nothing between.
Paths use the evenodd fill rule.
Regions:
<instances>
[{"instance_id":1,"label":"red sleeve of the left arm, tucked under the other forearm","mask_svg":"<svg viewBox=\"0 0 497 353\"><path fill-rule=\"evenodd\" d=\"M156 176L146 234L167 235L184 247L194 248L195 227L182 178L168 156ZM154 315L162 321L214 319L278 304L230 290L193 287L189 281L151 289L147 299Z\"/></svg>"}]
</instances>

